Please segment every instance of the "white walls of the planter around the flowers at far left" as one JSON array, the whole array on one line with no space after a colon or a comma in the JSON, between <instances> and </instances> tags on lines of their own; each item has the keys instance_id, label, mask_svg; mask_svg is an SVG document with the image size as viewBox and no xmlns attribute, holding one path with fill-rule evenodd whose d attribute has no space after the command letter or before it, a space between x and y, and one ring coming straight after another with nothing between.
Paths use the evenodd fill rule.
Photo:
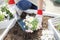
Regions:
<instances>
[{"instance_id":1,"label":"white walls of the planter around the flowers at far left","mask_svg":"<svg viewBox=\"0 0 60 40\"><path fill-rule=\"evenodd\" d=\"M9 7L9 6L8 6ZM10 10L10 12L12 13L12 15L13 15L13 18L12 19L5 19L5 20L3 20L3 21L0 21L0 29L4 29L4 28L6 28L9 24L10 24L10 22L14 19L14 18L16 18L15 17L15 11L13 10L13 8L11 8L11 7L9 7L9 10Z\"/></svg>"}]
</instances>

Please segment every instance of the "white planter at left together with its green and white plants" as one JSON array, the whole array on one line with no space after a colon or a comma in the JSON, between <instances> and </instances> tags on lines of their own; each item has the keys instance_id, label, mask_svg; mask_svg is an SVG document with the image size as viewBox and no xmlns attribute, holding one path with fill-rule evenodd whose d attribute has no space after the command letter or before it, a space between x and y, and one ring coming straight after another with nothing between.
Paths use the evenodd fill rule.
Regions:
<instances>
[{"instance_id":1,"label":"white planter at left together with its green and white plants","mask_svg":"<svg viewBox=\"0 0 60 40\"><path fill-rule=\"evenodd\" d=\"M4 8L5 8L5 10L3 10ZM3 21L2 20L0 21L0 29L7 28L7 26L10 24L10 22L15 18L16 12L15 12L15 10L13 10L13 7L11 8L11 6L8 6L8 8L9 8L9 10L7 10L7 8L5 6L3 6L1 8L3 12L6 12L6 14L5 14L1 11L2 14L3 15L5 14L7 16L6 16L6 18L4 16L5 19L2 19Z\"/></svg>"}]
</instances>

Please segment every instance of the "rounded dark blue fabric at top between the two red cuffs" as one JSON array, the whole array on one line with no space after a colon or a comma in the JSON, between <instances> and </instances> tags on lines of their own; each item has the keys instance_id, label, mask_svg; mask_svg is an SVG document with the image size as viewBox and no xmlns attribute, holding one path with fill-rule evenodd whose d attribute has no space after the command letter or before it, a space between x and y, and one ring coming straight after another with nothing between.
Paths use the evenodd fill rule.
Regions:
<instances>
[{"instance_id":1,"label":"rounded dark blue fabric at top between the two red cuffs","mask_svg":"<svg viewBox=\"0 0 60 40\"><path fill-rule=\"evenodd\" d=\"M27 10L32 6L32 3L27 0L21 0L16 5L21 10Z\"/></svg>"}]
</instances>

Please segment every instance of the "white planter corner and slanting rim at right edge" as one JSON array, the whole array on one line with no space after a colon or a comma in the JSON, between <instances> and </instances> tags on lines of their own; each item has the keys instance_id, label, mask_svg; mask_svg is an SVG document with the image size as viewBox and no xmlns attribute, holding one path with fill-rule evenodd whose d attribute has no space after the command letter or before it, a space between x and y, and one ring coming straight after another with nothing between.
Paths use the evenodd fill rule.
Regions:
<instances>
[{"instance_id":1,"label":"white planter corner and slanting rim at right edge","mask_svg":"<svg viewBox=\"0 0 60 40\"><path fill-rule=\"evenodd\" d=\"M48 20L48 29L54 31L56 40L60 40L60 33L55 28L56 24L60 21L60 17L52 18Z\"/></svg>"}]
</instances>

